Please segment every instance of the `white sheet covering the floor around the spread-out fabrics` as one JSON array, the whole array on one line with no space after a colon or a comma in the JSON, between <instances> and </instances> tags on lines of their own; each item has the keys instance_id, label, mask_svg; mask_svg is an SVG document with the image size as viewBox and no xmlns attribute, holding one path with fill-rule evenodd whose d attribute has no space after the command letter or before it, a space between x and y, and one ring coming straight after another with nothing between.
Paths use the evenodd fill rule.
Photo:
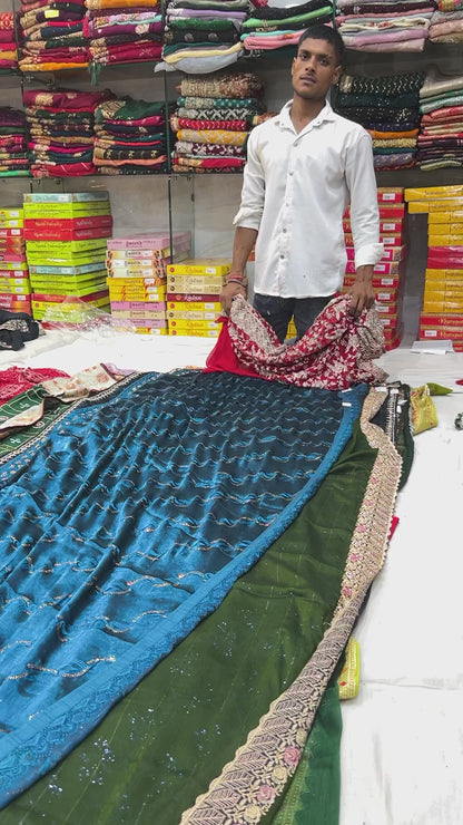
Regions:
<instances>
[{"instance_id":1,"label":"white sheet covering the floor around the spread-out fabrics","mask_svg":"<svg viewBox=\"0 0 463 825\"><path fill-rule=\"evenodd\" d=\"M19 352L0 351L0 369L75 373L106 362L167 371L204 366L214 342L49 331ZM402 346L381 363L392 380L454 392L434 397L439 426L415 437L398 525L355 628L361 688L343 702L339 825L463 825L463 430L454 425L463 353Z\"/></svg>"}]
</instances>

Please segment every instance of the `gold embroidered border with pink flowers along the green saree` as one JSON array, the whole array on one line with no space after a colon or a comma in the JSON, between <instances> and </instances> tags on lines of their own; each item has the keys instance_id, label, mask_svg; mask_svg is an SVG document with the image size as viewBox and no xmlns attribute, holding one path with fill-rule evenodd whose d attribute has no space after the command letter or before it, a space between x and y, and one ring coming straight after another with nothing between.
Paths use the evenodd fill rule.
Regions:
<instances>
[{"instance_id":1,"label":"gold embroidered border with pink flowers along the green saree","mask_svg":"<svg viewBox=\"0 0 463 825\"><path fill-rule=\"evenodd\" d=\"M296 770L326 685L387 549L402 459L387 435L371 423L386 397L386 388L372 388L362 409L361 427L377 456L351 541L332 624L293 685L272 702L233 761L184 813L180 825L257 823Z\"/></svg>"}]
</instances>

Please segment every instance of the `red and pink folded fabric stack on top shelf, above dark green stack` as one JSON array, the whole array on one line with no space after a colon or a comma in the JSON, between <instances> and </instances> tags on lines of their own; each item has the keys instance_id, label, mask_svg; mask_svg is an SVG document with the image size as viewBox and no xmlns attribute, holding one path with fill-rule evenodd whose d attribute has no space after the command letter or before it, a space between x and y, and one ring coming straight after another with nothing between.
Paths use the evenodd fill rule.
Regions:
<instances>
[{"instance_id":1,"label":"red and pink folded fabric stack on top shelf, above dark green stack","mask_svg":"<svg viewBox=\"0 0 463 825\"><path fill-rule=\"evenodd\" d=\"M93 75L101 66L160 60L160 0L85 0L85 4Z\"/></svg>"}]
</instances>

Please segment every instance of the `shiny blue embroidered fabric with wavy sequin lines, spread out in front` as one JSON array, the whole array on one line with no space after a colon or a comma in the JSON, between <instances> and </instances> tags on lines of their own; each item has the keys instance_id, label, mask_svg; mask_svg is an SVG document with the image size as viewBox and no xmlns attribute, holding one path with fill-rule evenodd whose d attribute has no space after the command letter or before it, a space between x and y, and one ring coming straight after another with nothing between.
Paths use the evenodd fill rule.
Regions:
<instances>
[{"instance_id":1,"label":"shiny blue embroidered fabric with wavy sequin lines, spread out in front","mask_svg":"<svg viewBox=\"0 0 463 825\"><path fill-rule=\"evenodd\" d=\"M125 379L0 462L0 805L69 753L298 515L366 394Z\"/></svg>"}]
</instances>

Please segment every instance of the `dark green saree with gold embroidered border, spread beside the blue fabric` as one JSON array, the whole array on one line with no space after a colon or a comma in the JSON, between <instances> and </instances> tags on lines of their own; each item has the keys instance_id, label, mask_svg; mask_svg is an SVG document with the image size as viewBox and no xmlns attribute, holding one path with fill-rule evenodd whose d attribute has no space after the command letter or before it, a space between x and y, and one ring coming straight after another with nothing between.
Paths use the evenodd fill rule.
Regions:
<instances>
[{"instance_id":1,"label":"dark green saree with gold embroidered border, spread beside the blue fabric","mask_svg":"<svg viewBox=\"0 0 463 825\"><path fill-rule=\"evenodd\" d=\"M337 823L336 678L384 561L401 479L397 450L370 424L385 395L371 391L321 487L220 606L55 770L11 802L2 825ZM307 692L302 676L311 667ZM282 761L272 714L282 716L285 701L295 729L283 736ZM268 768L256 773L270 771L276 794L250 776L259 738Z\"/></svg>"}]
</instances>

